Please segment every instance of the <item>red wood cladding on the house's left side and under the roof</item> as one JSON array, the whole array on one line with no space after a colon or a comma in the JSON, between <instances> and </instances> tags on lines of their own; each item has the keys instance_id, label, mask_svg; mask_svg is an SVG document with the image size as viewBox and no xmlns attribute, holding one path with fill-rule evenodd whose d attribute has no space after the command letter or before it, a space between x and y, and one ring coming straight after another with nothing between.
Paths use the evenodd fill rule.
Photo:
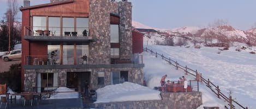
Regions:
<instances>
[{"instance_id":1,"label":"red wood cladding on the house's left side and under the roof","mask_svg":"<svg viewBox=\"0 0 256 109\"><path fill-rule=\"evenodd\" d=\"M21 8L22 11L22 64L28 55L47 55L47 42L28 41L25 36L25 28L33 26L33 16L46 17L89 17L89 0L68 0L63 2L35 5ZM25 71L21 67L21 87L24 89Z\"/></svg>"}]
</instances>

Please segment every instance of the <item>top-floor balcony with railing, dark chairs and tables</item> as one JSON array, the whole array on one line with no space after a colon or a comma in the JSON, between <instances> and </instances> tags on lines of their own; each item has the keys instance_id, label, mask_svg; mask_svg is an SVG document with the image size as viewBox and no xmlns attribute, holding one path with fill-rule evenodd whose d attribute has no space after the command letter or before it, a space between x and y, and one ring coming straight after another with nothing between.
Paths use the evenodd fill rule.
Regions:
<instances>
[{"instance_id":1,"label":"top-floor balcony with railing, dark chairs and tables","mask_svg":"<svg viewBox=\"0 0 256 109\"><path fill-rule=\"evenodd\" d=\"M93 42L91 28L25 27L25 40L46 42Z\"/></svg>"}]
</instances>

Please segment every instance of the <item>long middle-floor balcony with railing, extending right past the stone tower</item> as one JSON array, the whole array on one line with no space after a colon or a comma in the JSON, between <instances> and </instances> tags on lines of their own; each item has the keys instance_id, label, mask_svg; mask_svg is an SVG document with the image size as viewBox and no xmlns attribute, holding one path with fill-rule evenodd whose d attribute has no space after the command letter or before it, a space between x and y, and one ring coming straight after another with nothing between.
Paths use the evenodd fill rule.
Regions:
<instances>
[{"instance_id":1,"label":"long middle-floor balcony with railing, extending right past the stone tower","mask_svg":"<svg viewBox=\"0 0 256 109\"><path fill-rule=\"evenodd\" d=\"M137 58L138 57L138 58ZM144 67L142 55L133 60L111 60L109 64L101 63L100 60L92 60L88 57L87 62L82 57L71 56L25 56L24 69L63 69L63 68L125 68Z\"/></svg>"}]
</instances>

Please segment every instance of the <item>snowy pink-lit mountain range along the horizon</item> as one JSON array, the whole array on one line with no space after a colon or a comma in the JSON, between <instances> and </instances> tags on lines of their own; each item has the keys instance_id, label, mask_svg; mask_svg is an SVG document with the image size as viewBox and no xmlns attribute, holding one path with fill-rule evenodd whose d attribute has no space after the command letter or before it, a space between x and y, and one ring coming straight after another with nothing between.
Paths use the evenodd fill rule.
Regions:
<instances>
[{"instance_id":1,"label":"snowy pink-lit mountain range along the horizon","mask_svg":"<svg viewBox=\"0 0 256 109\"><path fill-rule=\"evenodd\" d=\"M204 43L227 43L240 42L246 43L248 46L256 46L256 28L249 30L239 30L230 25L220 25L217 27L199 28L199 27L181 27L174 29L159 29L149 27L140 22L132 21L134 28L140 29L154 29L158 31L160 36L172 37L181 36L187 37L187 39L194 39L195 37L201 37L204 39ZM212 42L212 40L216 40Z\"/></svg>"}]
</instances>

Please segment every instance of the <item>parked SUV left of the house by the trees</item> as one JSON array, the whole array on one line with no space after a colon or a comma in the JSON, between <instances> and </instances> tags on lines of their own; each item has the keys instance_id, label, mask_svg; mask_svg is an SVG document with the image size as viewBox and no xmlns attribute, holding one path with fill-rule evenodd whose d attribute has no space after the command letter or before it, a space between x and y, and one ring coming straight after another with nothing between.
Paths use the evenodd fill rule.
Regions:
<instances>
[{"instance_id":1,"label":"parked SUV left of the house by the trees","mask_svg":"<svg viewBox=\"0 0 256 109\"><path fill-rule=\"evenodd\" d=\"M12 50L9 54L3 55L2 59L7 62L14 59L21 59L21 49Z\"/></svg>"}]
</instances>

